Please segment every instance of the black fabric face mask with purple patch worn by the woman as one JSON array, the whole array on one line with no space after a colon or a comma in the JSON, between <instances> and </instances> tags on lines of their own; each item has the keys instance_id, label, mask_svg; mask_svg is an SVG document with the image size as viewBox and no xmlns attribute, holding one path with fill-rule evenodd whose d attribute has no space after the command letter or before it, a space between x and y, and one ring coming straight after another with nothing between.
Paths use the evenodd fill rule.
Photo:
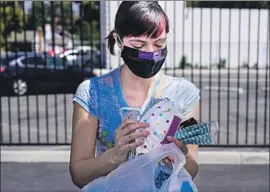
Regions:
<instances>
[{"instance_id":1,"label":"black fabric face mask with purple patch worn by the woman","mask_svg":"<svg viewBox=\"0 0 270 192\"><path fill-rule=\"evenodd\" d=\"M150 78L156 75L167 56L167 47L155 52L140 51L124 46L121 52L125 64L136 76Z\"/></svg>"}]
</instances>

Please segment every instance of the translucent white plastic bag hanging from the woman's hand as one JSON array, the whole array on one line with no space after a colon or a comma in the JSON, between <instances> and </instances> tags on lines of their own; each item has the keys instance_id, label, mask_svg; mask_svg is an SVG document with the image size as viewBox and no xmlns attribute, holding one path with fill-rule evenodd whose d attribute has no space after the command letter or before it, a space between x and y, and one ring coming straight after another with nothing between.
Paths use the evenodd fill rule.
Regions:
<instances>
[{"instance_id":1,"label":"translucent white plastic bag hanging from the woman's hand","mask_svg":"<svg viewBox=\"0 0 270 192\"><path fill-rule=\"evenodd\" d=\"M169 155L175 160L172 174L158 189L154 182L155 168L160 160ZM182 151L173 143L166 144L124 162L107 176L90 182L82 192L181 192L183 181L192 183L189 174L183 172L185 163Z\"/></svg>"}]
</instances>

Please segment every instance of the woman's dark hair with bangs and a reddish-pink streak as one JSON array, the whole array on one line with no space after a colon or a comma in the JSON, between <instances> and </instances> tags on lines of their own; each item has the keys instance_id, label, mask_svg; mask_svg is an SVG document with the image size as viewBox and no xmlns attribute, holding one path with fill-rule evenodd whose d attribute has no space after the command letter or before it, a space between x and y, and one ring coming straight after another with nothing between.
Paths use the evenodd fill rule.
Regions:
<instances>
[{"instance_id":1,"label":"woman's dark hair with bangs and a reddish-pink streak","mask_svg":"<svg viewBox=\"0 0 270 192\"><path fill-rule=\"evenodd\" d=\"M116 43L114 33L117 33L121 39L125 36L141 35L157 38L164 30L166 33L169 32L169 20L157 2L123 1L115 16L114 30L106 38L108 48L114 55Z\"/></svg>"}]
</instances>

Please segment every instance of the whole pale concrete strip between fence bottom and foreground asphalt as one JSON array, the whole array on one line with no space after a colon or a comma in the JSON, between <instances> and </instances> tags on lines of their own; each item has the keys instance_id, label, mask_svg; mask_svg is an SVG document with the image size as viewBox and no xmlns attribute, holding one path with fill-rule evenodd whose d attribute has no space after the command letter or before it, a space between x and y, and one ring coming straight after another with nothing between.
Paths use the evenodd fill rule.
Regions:
<instances>
[{"instance_id":1,"label":"whole pale concrete strip between fence bottom and foreground asphalt","mask_svg":"<svg viewBox=\"0 0 270 192\"><path fill-rule=\"evenodd\" d=\"M70 146L1 147L1 162L68 163ZM200 148L198 163L202 165L269 165L267 148Z\"/></svg>"}]
</instances>

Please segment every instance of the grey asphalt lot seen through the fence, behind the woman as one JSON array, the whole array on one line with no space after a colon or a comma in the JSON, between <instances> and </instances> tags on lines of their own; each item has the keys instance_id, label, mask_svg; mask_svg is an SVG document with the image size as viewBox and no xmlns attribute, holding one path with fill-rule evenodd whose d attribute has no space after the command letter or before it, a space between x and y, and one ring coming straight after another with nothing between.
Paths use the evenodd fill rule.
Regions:
<instances>
[{"instance_id":1,"label":"grey asphalt lot seen through the fence, behind the woman","mask_svg":"<svg viewBox=\"0 0 270 192\"><path fill-rule=\"evenodd\" d=\"M176 72L200 88L201 121L218 120L220 144L269 145L269 72L267 79L266 70L241 70L239 74ZM72 97L72 94L1 97L2 142L69 143Z\"/></svg>"}]
</instances>

